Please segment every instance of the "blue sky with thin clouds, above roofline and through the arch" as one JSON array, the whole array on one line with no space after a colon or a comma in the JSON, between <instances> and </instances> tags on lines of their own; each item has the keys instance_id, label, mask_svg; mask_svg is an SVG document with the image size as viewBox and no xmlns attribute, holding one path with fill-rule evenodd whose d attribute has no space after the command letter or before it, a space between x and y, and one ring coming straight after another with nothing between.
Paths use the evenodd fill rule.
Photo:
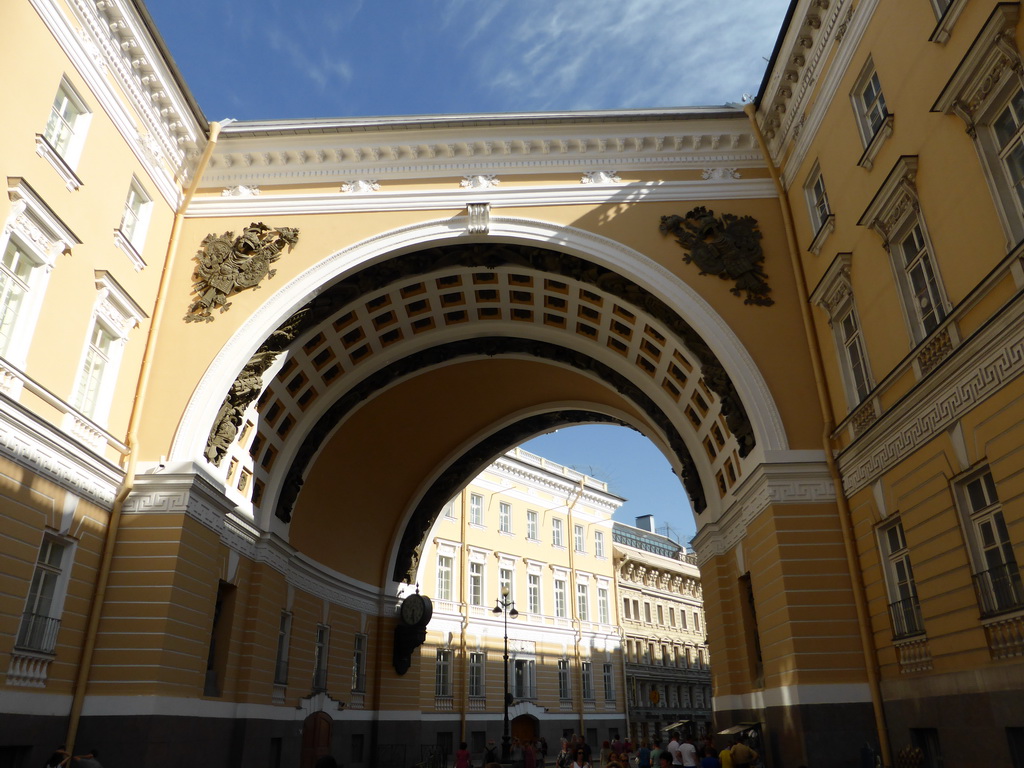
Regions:
<instances>
[{"instance_id":1,"label":"blue sky with thin clouds, above roofline and through the arch","mask_svg":"<svg viewBox=\"0 0 1024 768\"><path fill-rule=\"evenodd\" d=\"M147 0L210 120L703 106L757 93L790 0ZM624 427L527 451L687 542L668 461Z\"/></svg>"}]
</instances>

